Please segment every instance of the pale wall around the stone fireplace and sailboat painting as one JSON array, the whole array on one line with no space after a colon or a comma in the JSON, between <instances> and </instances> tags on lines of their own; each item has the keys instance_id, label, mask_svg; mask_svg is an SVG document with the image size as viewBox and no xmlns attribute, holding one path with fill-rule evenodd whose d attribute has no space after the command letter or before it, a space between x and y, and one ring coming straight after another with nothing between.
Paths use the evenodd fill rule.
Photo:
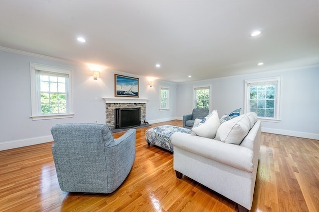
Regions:
<instances>
[{"instance_id":1,"label":"pale wall around the stone fireplace and sailboat painting","mask_svg":"<svg viewBox=\"0 0 319 212\"><path fill-rule=\"evenodd\" d=\"M30 96L30 63L72 70L74 117L32 121ZM0 150L53 141L50 129L57 123L105 124L105 101L114 97L114 73L137 77L140 97L149 99L146 119L150 123L176 119L174 83L155 81L119 71L105 70L98 80L84 64L76 64L20 51L0 51ZM160 84L170 88L170 110L160 111ZM133 98L133 97L132 97Z\"/></svg>"}]
</instances>

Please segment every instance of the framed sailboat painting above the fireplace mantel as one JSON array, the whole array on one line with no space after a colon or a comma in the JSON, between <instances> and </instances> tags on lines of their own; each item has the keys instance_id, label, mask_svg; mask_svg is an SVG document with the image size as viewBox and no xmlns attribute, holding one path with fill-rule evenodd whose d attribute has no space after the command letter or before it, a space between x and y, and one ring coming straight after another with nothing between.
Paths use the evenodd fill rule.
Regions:
<instances>
[{"instance_id":1,"label":"framed sailboat painting above the fireplace mantel","mask_svg":"<svg viewBox=\"0 0 319 212\"><path fill-rule=\"evenodd\" d=\"M139 97L139 78L114 74L114 96Z\"/></svg>"}]
</instances>

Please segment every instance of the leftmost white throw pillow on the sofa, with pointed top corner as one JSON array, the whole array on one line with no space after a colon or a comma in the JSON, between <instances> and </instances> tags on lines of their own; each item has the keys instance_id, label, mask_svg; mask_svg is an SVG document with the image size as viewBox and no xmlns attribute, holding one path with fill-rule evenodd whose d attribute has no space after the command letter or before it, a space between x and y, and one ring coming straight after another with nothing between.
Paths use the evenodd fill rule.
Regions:
<instances>
[{"instance_id":1,"label":"leftmost white throw pillow on the sofa, with pointed top corner","mask_svg":"<svg viewBox=\"0 0 319 212\"><path fill-rule=\"evenodd\" d=\"M192 135L213 139L216 136L219 127L219 118L217 110L208 114L201 122L194 125L191 129Z\"/></svg>"}]
</instances>

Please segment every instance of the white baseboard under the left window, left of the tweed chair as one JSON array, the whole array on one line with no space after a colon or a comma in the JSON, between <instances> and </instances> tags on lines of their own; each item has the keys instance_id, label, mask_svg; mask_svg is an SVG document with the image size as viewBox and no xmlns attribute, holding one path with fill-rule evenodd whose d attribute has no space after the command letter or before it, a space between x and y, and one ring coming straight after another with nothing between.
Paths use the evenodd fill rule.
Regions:
<instances>
[{"instance_id":1,"label":"white baseboard under the left window, left of the tweed chair","mask_svg":"<svg viewBox=\"0 0 319 212\"><path fill-rule=\"evenodd\" d=\"M44 136L44 137L36 137L36 138L30 138L30 139L21 139L21 140L15 140L15 141L7 141L0 143L0 151L6 150L6 149L12 149L12 148L19 148L23 146L30 146L35 145L39 143L46 143L53 141L52 136Z\"/></svg>"}]
</instances>

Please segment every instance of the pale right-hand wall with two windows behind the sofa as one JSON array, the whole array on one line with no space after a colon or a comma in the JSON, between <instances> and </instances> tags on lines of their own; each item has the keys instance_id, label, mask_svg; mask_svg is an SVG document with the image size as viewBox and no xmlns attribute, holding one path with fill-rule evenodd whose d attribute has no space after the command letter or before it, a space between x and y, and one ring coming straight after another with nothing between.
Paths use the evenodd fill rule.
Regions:
<instances>
[{"instance_id":1,"label":"pale right-hand wall with two windows behind the sofa","mask_svg":"<svg viewBox=\"0 0 319 212\"><path fill-rule=\"evenodd\" d=\"M179 84L177 114L182 119L192 110L193 85L211 84L211 110L219 117L244 109L245 79L281 76L281 121L262 122L262 131L319 140L319 66L216 78Z\"/></svg>"}]
</instances>

